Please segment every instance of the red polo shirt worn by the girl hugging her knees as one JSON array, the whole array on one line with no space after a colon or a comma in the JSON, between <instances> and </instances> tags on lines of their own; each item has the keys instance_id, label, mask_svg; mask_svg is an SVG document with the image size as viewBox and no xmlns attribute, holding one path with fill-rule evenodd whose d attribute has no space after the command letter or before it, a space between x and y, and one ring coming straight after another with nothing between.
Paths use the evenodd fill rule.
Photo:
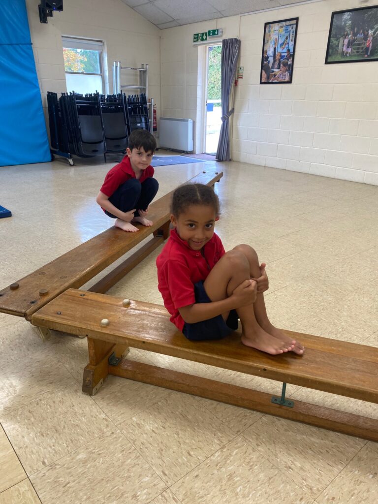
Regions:
<instances>
[{"instance_id":1,"label":"red polo shirt worn by the girl hugging her knees","mask_svg":"<svg viewBox=\"0 0 378 504\"><path fill-rule=\"evenodd\" d=\"M194 284L206 280L224 254L222 242L215 233L205 244L203 256L200 250L192 250L187 242L178 236L176 229L172 229L167 243L156 259L156 266L158 288L164 306L171 314L170 321L180 331L184 327L184 320L178 308L196 302Z\"/></svg>"}]
</instances>

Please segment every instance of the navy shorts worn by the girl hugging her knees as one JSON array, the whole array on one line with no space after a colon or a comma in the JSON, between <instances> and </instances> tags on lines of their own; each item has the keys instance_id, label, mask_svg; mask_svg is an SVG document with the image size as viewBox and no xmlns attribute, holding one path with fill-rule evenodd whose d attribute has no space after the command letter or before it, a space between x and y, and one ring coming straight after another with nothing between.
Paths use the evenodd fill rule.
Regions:
<instances>
[{"instance_id":1,"label":"navy shorts worn by the girl hugging her knees","mask_svg":"<svg viewBox=\"0 0 378 504\"><path fill-rule=\"evenodd\" d=\"M211 299L206 294L204 283L198 282L194 285L196 303L211 303ZM227 321L221 315L212 319L187 324L182 329L184 336L188 340L203 341L203 340L220 340L225 338L238 327L238 315L236 310L230 310Z\"/></svg>"}]
</instances>

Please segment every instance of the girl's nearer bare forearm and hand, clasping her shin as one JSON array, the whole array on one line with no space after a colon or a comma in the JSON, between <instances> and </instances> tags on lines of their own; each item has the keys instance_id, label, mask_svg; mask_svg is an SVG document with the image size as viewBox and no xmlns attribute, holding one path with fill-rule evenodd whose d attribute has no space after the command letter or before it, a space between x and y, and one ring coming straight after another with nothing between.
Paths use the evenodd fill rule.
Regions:
<instances>
[{"instance_id":1,"label":"girl's nearer bare forearm and hand, clasping her shin","mask_svg":"<svg viewBox=\"0 0 378 504\"><path fill-rule=\"evenodd\" d=\"M212 301L211 303L195 303L178 308L181 317L187 324L195 324L212 319L232 309L247 306L256 301L257 283L254 280L244 280L233 291L231 296Z\"/></svg>"}]
</instances>

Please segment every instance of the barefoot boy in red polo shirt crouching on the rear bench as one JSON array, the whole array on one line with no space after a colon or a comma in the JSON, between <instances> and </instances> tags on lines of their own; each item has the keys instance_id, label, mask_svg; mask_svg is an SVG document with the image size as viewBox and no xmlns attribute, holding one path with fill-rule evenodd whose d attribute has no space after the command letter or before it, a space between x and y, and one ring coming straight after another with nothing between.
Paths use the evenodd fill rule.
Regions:
<instances>
[{"instance_id":1,"label":"barefoot boy in red polo shirt crouching on the rear bench","mask_svg":"<svg viewBox=\"0 0 378 504\"><path fill-rule=\"evenodd\" d=\"M123 231L139 231L132 222L152 225L146 215L159 188L150 164L155 150L156 140L151 133L133 131L127 156L108 171L97 195L96 202L106 215L116 219L114 225Z\"/></svg>"}]
</instances>

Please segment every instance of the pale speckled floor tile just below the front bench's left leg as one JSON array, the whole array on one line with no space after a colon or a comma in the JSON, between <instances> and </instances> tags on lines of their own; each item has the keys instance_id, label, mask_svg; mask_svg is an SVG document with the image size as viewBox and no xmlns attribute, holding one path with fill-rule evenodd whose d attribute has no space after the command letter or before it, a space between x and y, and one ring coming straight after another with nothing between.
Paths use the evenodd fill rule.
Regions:
<instances>
[{"instance_id":1,"label":"pale speckled floor tile just below the front bench's left leg","mask_svg":"<svg viewBox=\"0 0 378 504\"><path fill-rule=\"evenodd\" d=\"M3 416L2 424L29 476L112 428L78 384L44 394Z\"/></svg>"}]
</instances>

